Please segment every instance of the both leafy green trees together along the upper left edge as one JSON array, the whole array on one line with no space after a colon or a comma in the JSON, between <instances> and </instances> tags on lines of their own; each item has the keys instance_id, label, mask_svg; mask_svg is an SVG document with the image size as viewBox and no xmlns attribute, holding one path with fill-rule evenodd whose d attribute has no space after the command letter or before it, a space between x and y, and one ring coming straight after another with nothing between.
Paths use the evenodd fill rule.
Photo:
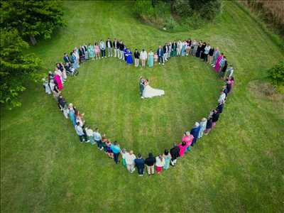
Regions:
<instances>
[{"instance_id":1,"label":"both leafy green trees together along the upper left edge","mask_svg":"<svg viewBox=\"0 0 284 213\"><path fill-rule=\"evenodd\" d=\"M40 59L25 54L37 38L50 38L56 28L64 26L61 1L1 1L1 66L0 103L16 107L18 94L26 89L27 81L38 80Z\"/></svg>"}]
</instances>

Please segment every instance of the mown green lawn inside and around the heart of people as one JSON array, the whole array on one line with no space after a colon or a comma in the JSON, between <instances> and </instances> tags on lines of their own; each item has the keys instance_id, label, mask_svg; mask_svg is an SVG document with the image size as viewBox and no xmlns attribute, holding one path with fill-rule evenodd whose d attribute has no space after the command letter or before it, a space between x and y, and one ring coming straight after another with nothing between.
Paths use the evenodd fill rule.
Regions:
<instances>
[{"instance_id":1,"label":"mown green lawn inside and around the heart of people","mask_svg":"<svg viewBox=\"0 0 284 213\"><path fill-rule=\"evenodd\" d=\"M215 23L166 33L131 15L129 1L65 1L67 27L31 52L47 72L62 53L101 38L131 48L156 48L178 38L207 40L235 67L234 92L216 129L161 175L129 174L90 144L80 144L70 121L41 85L23 93L21 108L1 109L1 212L283 212L284 102L249 87L284 60L258 23L224 1ZM165 89L141 100L138 77ZM157 154L216 105L222 82L196 58L136 69L117 59L87 62L63 95L121 146Z\"/></svg>"}]
</instances>

